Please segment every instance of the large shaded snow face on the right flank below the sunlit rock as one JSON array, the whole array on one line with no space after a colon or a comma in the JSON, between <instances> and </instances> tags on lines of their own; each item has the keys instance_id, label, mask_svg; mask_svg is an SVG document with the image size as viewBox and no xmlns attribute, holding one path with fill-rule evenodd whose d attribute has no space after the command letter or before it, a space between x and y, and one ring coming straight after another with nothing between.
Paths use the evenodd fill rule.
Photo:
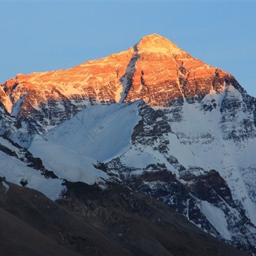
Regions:
<instances>
[{"instance_id":1,"label":"large shaded snow face on the right flank below the sunlit rock","mask_svg":"<svg viewBox=\"0 0 256 256\"><path fill-rule=\"evenodd\" d=\"M243 176L241 172L244 168L256 164L256 140L251 139L237 144L223 139L220 108L225 93L228 93L228 97L234 100L241 100L241 93L234 86L228 86L222 93L211 92L204 97L202 105L215 100L216 108L212 111L204 111L198 102L195 104L184 102L184 106L180 110L181 122L169 122L172 131L179 136L179 140L184 145L184 151L182 147L178 147L179 143L175 143L175 140L170 140L168 147L173 156L185 167L193 163L205 170L218 171L227 182L234 200L243 204L246 215L256 225L256 205L252 202L246 188L252 177ZM236 113L236 119L230 120L230 125L234 122L234 125L238 124L237 128L239 128L239 122L243 120L244 115L252 114L245 114L241 110ZM170 114L171 117L172 114ZM192 154L189 154L189 151ZM193 159L193 157L195 158ZM256 177L256 173L253 174L253 177Z\"/></svg>"}]
</instances>

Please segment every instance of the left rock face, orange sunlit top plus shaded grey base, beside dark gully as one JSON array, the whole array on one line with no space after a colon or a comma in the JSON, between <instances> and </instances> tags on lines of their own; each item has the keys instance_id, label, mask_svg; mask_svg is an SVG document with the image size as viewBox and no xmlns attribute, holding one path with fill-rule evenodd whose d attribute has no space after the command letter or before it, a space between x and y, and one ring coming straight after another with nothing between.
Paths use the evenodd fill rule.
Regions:
<instances>
[{"instance_id":1,"label":"left rock face, orange sunlit top plus shaded grey base, beside dark gully","mask_svg":"<svg viewBox=\"0 0 256 256\"><path fill-rule=\"evenodd\" d=\"M129 49L67 70L19 74L1 84L1 102L28 132L48 131L86 106L120 101L120 78L132 54Z\"/></svg>"}]
</instances>

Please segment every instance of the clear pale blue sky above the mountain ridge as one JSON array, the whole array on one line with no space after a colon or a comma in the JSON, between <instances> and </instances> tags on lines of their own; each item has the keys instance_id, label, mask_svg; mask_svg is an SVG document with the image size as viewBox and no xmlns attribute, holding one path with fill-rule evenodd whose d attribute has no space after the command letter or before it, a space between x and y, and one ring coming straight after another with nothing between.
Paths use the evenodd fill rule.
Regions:
<instances>
[{"instance_id":1,"label":"clear pale blue sky above the mountain ridge","mask_svg":"<svg viewBox=\"0 0 256 256\"><path fill-rule=\"evenodd\" d=\"M0 83L70 68L157 33L256 97L256 1L3 1Z\"/></svg>"}]
</instances>

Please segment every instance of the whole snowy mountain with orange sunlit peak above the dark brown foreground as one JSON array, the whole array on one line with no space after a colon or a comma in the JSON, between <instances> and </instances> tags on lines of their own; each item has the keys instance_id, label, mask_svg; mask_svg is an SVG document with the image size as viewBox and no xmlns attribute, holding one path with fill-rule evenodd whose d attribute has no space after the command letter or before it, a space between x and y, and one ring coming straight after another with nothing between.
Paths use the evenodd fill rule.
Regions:
<instances>
[{"instance_id":1,"label":"whole snowy mountain with orange sunlit peak above the dark brown foreground","mask_svg":"<svg viewBox=\"0 0 256 256\"><path fill-rule=\"evenodd\" d=\"M169 222L174 210L195 230L256 255L256 99L232 75L154 34L127 51L67 70L19 74L0 88L0 175L8 182L44 193L134 255L160 255L138 251L153 238L143 241L140 233L139 246L135 220L127 217L137 214L147 227L147 200L161 204ZM88 189L98 191L97 203ZM101 204L121 204L122 211ZM156 216L151 212L150 220ZM174 247L159 252L205 250Z\"/></svg>"}]
</instances>

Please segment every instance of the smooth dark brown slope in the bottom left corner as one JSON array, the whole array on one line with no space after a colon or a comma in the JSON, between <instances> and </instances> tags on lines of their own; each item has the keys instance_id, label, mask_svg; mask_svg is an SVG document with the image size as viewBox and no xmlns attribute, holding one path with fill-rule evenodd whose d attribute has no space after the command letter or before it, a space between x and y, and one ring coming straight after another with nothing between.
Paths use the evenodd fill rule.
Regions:
<instances>
[{"instance_id":1,"label":"smooth dark brown slope in the bottom left corner","mask_svg":"<svg viewBox=\"0 0 256 256\"><path fill-rule=\"evenodd\" d=\"M38 191L6 180L0 189L0 248L6 255L132 255L108 234Z\"/></svg>"}]
</instances>

